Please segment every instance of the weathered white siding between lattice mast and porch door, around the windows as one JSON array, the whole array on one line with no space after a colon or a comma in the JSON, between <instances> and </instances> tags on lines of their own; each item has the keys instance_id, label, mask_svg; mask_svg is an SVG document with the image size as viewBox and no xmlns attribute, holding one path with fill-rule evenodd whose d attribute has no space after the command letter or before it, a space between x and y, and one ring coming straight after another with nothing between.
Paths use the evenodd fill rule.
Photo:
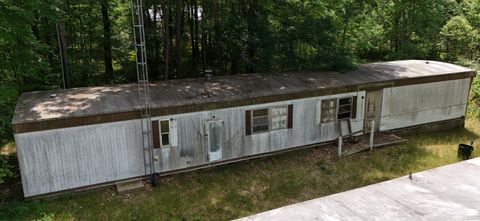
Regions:
<instances>
[{"instance_id":1,"label":"weathered white siding between lattice mast and porch door, around the windows","mask_svg":"<svg viewBox=\"0 0 480 221\"><path fill-rule=\"evenodd\" d=\"M317 103L322 99L349 96L358 96L357 118L352 120L352 129L359 130L363 128L364 91L152 118L152 120L172 119L178 125L178 147L155 150L156 158L159 159L155 164L155 171L166 172L208 163L204 125L211 120L224 121L222 160L331 141L338 137L336 125L316 123L317 115L320 113ZM245 136L245 111L289 104L293 104L292 129Z\"/></svg>"}]
</instances>

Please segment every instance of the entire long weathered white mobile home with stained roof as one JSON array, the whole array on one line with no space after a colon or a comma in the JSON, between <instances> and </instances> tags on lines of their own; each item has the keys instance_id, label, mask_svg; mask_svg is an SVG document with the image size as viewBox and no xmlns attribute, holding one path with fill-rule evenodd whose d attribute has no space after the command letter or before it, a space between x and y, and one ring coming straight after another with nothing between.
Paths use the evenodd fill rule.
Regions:
<instances>
[{"instance_id":1,"label":"entire long weathered white mobile home with stained roof","mask_svg":"<svg viewBox=\"0 0 480 221\"><path fill-rule=\"evenodd\" d=\"M436 61L348 73L242 74L151 84L155 172L162 175L329 142L353 131L462 126L475 71ZM26 197L145 175L134 84L29 92L13 128ZM51 96L56 94L56 96Z\"/></svg>"}]
</instances>

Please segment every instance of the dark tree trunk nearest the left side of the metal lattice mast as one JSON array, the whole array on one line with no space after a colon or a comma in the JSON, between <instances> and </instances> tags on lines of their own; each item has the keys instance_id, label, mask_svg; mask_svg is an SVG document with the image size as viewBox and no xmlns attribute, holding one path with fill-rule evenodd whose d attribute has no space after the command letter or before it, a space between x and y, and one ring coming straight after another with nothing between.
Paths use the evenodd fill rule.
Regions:
<instances>
[{"instance_id":1,"label":"dark tree trunk nearest the left side of the metal lattice mast","mask_svg":"<svg viewBox=\"0 0 480 221\"><path fill-rule=\"evenodd\" d=\"M110 18L108 15L108 0L101 1L102 23L103 23L103 59L105 63L105 82L113 80L112 65L112 33Z\"/></svg>"}]
</instances>

